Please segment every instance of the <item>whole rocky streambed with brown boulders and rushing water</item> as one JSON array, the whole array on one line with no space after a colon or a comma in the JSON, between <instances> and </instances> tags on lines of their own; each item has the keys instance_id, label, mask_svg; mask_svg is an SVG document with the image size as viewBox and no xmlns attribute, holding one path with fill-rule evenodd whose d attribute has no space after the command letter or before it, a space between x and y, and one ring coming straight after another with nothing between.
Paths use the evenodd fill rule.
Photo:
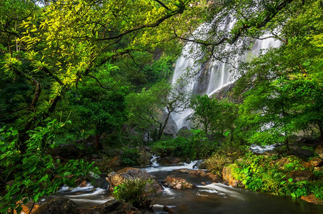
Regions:
<instances>
[{"instance_id":1,"label":"whole rocky streambed with brown boulders and rushing water","mask_svg":"<svg viewBox=\"0 0 323 214\"><path fill-rule=\"evenodd\" d=\"M154 198L152 210L138 210L116 202L109 190L90 184L72 189L63 187L59 193L43 200L70 199L76 205L69 205L73 211L66 213L323 213L322 205L219 183L219 176L194 168L197 161L179 165L159 165L156 157L152 161L149 167L124 168L107 178L110 189L121 180L138 175L154 178L151 188L159 190L159 197ZM63 207L64 203L61 202Z\"/></svg>"}]
</instances>

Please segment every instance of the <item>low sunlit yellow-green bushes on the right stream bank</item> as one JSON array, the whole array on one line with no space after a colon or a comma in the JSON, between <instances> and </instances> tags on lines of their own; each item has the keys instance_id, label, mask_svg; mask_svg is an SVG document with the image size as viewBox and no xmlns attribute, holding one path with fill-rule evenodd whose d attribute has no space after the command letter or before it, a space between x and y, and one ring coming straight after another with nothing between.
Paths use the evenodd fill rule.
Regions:
<instances>
[{"instance_id":1,"label":"low sunlit yellow-green bushes on the right stream bank","mask_svg":"<svg viewBox=\"0 0 323 214\"><path fill-rule=\"evenodd\" d=\"M247 153L242 160L236 161L232 168L234 177L242 180L249 190L291 195L296 198L313 194L317 198L322 198L322 180L296 182L288 177L291 170L304 170L298 158L288 158L284 167L279 167L280 164L274 156L265 157Z\"/></svg>"}]
</instances>

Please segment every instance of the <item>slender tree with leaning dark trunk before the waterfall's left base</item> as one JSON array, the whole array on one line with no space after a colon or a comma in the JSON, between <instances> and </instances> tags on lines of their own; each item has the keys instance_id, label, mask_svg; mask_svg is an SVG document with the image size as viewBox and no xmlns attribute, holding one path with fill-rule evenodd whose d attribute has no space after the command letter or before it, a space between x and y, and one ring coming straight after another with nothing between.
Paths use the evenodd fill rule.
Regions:
<instances>
[{"instance_id":1,"label":"slender tree with leaning dark trunk before the waterfall's left base","mask_svg":"<svg viewBox=\"0 0 323 214\"><path fill-rule=\"evenodd\" d=\"M169 85L157 83L141 93L127 96L130 122L144 128L146 133L156 128L160 140L171 113L180 113L187 108L189 93L184 91L183 83Z\"/></svg>"}]
</instances>

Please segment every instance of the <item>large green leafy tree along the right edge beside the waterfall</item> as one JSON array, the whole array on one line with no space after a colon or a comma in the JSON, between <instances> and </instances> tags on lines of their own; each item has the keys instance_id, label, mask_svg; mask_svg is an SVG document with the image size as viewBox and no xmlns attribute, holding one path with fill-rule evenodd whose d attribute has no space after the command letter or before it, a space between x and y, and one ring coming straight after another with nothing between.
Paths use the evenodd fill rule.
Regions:
<instances>
[{"instance_id":1,"label":"large green leafy tree along the right edge beside the waterfall","mask_svg":"<svg viewBox=\"0 0 323 214\"><path fill-rule=\"evenodd\" d=\"M282 35L276 36L282 46L242 66L236 88L237 93L249 90L239 109L238 131L249 143L285 141L287 153L291 134L313 125L322 134L323 52L317 41L322 36L322 9L320 1L295 8L297 16L284 20ZM282 14L286 16L290 14Z\"/></svg>"}]
</instances>

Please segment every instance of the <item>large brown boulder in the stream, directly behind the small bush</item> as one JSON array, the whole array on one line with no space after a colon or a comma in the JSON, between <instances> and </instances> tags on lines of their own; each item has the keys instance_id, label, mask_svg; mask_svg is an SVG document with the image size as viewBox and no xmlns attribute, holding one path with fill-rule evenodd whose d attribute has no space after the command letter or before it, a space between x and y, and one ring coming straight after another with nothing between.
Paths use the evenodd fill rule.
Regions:
<instances>
[{"instance_id":1,"label":"large brown boulder in the stream, directly behind the small bush","mask_svg":"<svg viewBox=\"0 0 323 214\"><path fill-rule=\"evenodd\" d=\"M153 180L153 184L149 188L153 188L157 192L163 190L162 185L158 183L153 175L149 175L145 170L141 170L139 168L127 167L117 171L116 173L109 173L106 180L110 184L110 190L113 191L114 187L122 184L124 180L133 180L134 178L141 178L143 180L151 179Z\"/></svg>"}]
</instances>

